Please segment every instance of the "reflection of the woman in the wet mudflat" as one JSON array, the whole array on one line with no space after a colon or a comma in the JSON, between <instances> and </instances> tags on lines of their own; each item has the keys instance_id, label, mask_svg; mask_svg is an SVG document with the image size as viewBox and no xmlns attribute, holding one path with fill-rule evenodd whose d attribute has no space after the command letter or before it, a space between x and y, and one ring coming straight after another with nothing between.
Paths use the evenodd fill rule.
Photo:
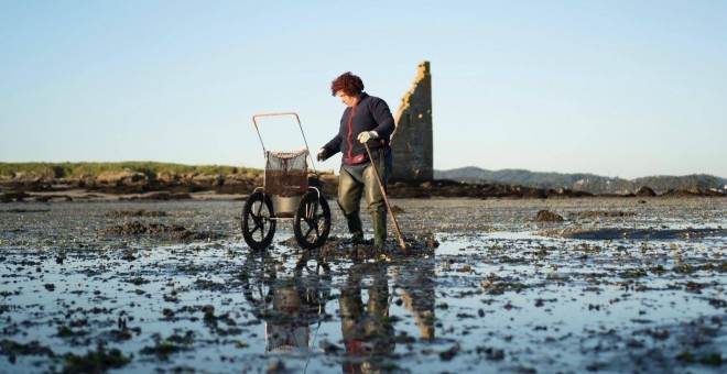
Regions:
<instances>
[{"instance_id":1,"label":"reflection of the woman in the wet mudflat","mask_svg":"<svg viewBox=\"0 0 727 374\"><path fill-rule=\"evenodd\" d=\"M394 350L386 268L376 266L372 273L362 273L365 271L365 267L351 267L346 286L340 292L340 324L347 351L344 372L376 370L375 365L380 360L371 361L370 356L386 355ZM371 275L373 282L368 289L369 298L365 307L361 280L366 275Z\"/></svg>"}]
</instances>

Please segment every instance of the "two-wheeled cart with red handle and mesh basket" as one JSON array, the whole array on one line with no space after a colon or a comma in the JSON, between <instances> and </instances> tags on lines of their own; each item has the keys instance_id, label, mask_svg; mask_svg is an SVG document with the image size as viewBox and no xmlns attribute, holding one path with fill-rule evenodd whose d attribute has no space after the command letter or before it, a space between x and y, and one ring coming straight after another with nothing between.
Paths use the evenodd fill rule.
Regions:
<instances>
[{"instance_id":1,"label":"two-wheeled cart with red handle and mesh basket","mask_svg":"<svg viewBox=\"0 0 727 374\"><path fill-rule=\"evenodd\" d=\"M305 150L271 152L265 150L257 119L260 117L295 116ZM306 250L323 245L330 231L330 209L323 196L321 176L308 178L308 143L296 113L252 116L265 156L263 187L257 187L242 207L242 237L253 250L264 250L272 243L278 221L292 220L297 243ZM313 161L313 158L311 158Z\"/></svg>"}]
</instances>

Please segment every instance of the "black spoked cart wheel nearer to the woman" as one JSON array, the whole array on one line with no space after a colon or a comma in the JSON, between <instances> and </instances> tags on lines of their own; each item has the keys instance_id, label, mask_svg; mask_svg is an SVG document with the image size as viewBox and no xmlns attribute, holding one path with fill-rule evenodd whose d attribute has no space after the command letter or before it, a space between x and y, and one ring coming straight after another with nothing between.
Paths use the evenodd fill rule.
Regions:
<instances>
[{"instance_id":1,"label":"black spoked cart wheel nearer to the woman","mask_svg":"<svg viewBox=\"0 0 727 374\"><path fill-rule=\"evenodd\" d=\"M295 240L306 250L323 245L330 232L330 208L328 201L315 191L303 195L293 220Z\"/></svg>"}]
</instances>

